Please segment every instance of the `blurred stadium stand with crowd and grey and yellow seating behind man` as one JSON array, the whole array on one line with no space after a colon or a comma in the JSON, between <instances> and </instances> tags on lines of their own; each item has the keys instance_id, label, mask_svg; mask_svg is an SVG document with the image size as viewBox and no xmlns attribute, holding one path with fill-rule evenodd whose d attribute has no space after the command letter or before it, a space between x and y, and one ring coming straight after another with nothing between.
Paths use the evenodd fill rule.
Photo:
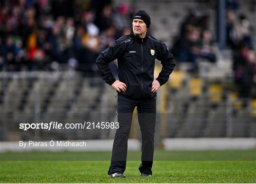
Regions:
<instances>
[{"instance_id":1,"label":"blurred stadium stand with crowd and grey and yellow seating behind man","mask_svg":"<svg viewBox=\"0 0 256 184\"><path fill-rule=\"evenodd\" d=\"M170 49L176 49L182 25L191 18L188 15L193 21L194 18L200 20L199 26L207 26L212 41L216 37L214 0L108 0L103 4L75 1L72 5L67 0L62 5L47 1L44 1L46 4L32 0L24 1L25 4L19 2L0 3L0 140L113 138L113 130L24 132L18 129L18 124L117 121L116 92L100 78L94 61L115 39L129 34L130 16L136 9L146 10L151 16L150 33ZM177 67L168 84L158 91L155 137L256 137L256 70L250 70L255 69L256 64L253 51L256 1L237 2L238 9L229 0L227 6L232 11L230 17L243 14L240 20L250 23L250 36L245 38L247 46L234 47L234 43L228 43L227 48L220 51L218 43L213 42L210 46L216 61L198 57L193 61L196 65L179 61L181 58L176 55ZM69 6L73 10L65 13ZM54 11L56 8L60 10ZM27 23L23 25L22 20ZM188 39L194 37L203 42L204 32L197 33L198 25L193 26ZM185 36L186 31L183 34ZM207 34L205 32L206 37ZM201 52L203 49L199 48ZM239 53L237 50L241 53L238 56L234 54ZM238 76L241 70L236 59L243 54L247 56L246 63L251 61L244 70L251 72L254 79ZM157 61L155 75L160 66ZM116 75L116 63L110 67ZM249 82L245 83L247 79ZM241 94L244 91L239 90L244 88L250 89L245 96ZM137 121L132 123L130 136L140 137Z\"/></svg>"}]
</instances>

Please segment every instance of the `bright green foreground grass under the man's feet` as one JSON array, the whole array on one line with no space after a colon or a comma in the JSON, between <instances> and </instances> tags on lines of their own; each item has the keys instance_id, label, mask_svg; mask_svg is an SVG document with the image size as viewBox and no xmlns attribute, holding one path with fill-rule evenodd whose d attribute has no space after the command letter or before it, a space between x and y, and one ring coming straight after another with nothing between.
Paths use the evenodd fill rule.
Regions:
<instances>
[{"instance_id":1,"label":"bright green foreground grass under the man's feet","mask_svg":"<svg viewBox=\"0 0 256 184\"><path fill-rule=\"evenodd\" d=\"M200 151L183 151L183 157L186 154L198 155L198 152ZM169 153L174 156L173 152ZM61 156L64 153L55 154ZM29 156L32 155L33 153L29 153ZM5 154L1 154L1 158L4 158L3 156L7 158ZM140 161L128 161L125 171L127 177L115 179L110 179L107 175L109 164L110 161L3 161L2 159L0 183L256 183L255 160L154 161L151 178L140 177L138 171Z\"/></svg>"}]
</instances>

